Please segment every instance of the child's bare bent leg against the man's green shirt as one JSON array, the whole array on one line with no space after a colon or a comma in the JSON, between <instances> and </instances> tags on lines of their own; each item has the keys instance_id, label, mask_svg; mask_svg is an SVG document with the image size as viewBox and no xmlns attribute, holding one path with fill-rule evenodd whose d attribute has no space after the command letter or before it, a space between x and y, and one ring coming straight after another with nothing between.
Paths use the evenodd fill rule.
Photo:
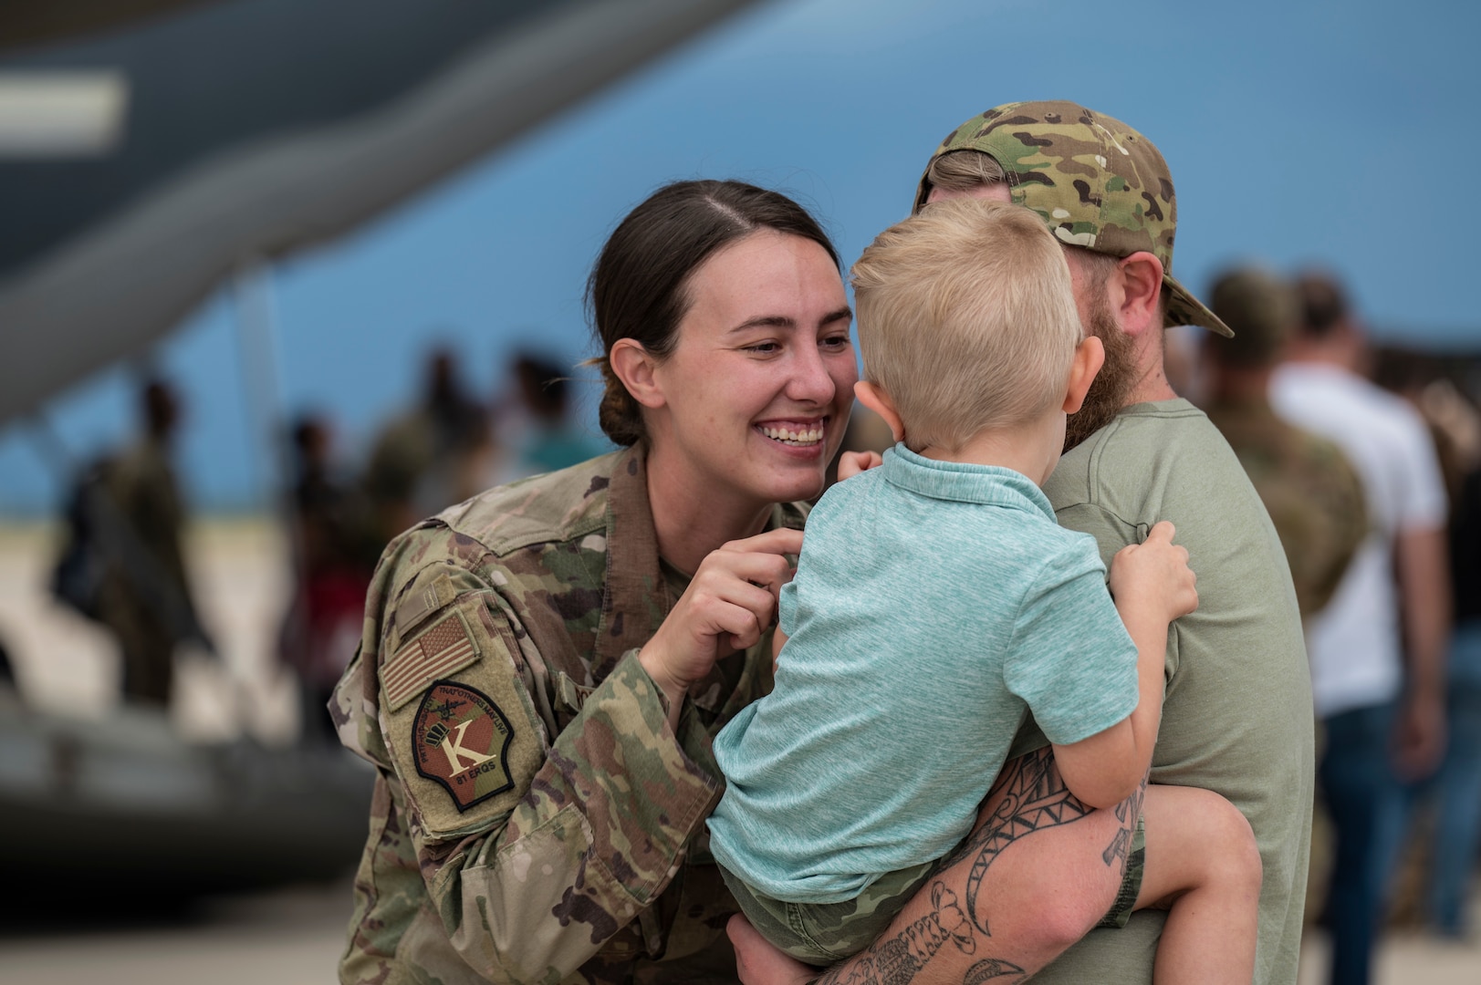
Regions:
<instances>
[{"instance_id":1,"label":"child's bare bent leg against the man's green shirt","mask_svg":"<svg viewBox=\"0 0 1481 985\"><path fill-rule=\"evenodd\" d=\"M1248 985L1260 905L1260 853L1234 804L1194 787L1146 788L1146 864L1137 909L1171 906L1155 985Z\"/></svg>"}]
</instances>

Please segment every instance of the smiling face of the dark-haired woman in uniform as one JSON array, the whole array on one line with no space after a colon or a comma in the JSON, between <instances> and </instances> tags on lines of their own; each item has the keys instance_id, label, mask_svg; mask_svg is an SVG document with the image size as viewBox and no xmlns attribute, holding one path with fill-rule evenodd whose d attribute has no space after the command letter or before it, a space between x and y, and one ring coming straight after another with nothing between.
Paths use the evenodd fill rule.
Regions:
<instances>
[{"instance_id":1,"label":"smiling face of the dark-haired woman in uniform","mask_svg":"<svg viewBox=\"0 0 1481 985\"><path fill-rule=\"evenodd\" d=\"M816 496L857 379L838 268L809 238L760 230L696 268L686 293L674 351L653 369L655 459L702 496Z\"/></svg>"}]
</instances>

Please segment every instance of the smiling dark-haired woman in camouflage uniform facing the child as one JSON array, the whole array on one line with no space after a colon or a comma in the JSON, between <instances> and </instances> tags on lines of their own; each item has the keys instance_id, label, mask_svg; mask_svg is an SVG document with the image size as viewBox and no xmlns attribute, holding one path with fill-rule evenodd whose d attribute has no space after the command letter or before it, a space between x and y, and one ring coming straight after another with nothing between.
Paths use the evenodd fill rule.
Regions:
<instances>
[{"instance_id":1,"label":"smiling dark-haired woman in camouflage uniform facing the child","mask_svg":"<svg viewBox=\"0 0 1481 985\"><path fill-rule=\"evenodd\" d=\"M680 182L589 301L624 450L387 548L342 741L378 767L344 982L735 982L711 736L770 687L776 592L856 379L788 198Z\"/></svg>"}]
</instances>

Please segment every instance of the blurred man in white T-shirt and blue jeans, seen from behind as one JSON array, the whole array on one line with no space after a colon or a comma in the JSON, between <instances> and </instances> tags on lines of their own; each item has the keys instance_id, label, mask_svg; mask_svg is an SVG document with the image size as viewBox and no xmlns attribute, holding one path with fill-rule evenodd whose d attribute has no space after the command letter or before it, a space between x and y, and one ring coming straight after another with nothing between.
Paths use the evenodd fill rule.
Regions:
<instances>
[{"instance_id":1,"label":"blurred man in white T-shirt and blue jeans, seen from behind","mask_svg":"<svg viewBox=\"0 0 1481 985\"><path fill-rule=\"evenodd\" d=\"M1309 627L1325 730L1318 778L1336 835L1331 982L1360 985L1371 978L1401 840L1401 781L1429 775L1444 752L1445 490L1419 413L1361 375L1365 341L1336 280L1306 274L1297 290L1300 326L1271 403L1342 447L1370 518L1331 604Z\"/></svg>"}]
</instances>

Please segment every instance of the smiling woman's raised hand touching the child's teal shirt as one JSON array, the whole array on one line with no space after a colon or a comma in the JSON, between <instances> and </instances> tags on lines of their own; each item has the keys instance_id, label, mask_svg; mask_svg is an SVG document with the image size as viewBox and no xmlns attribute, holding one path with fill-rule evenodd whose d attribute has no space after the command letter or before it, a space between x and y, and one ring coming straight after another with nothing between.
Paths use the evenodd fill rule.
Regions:
<instances>
[{"instance_id":1,"label":"smiling woman's raised hand touching the child's teal shirt","mask_svg":"<svg viewBox=\"0 0 1481 985\"><path fill-rule=\"evenodd\" d=\"M638 662L668 696L669 721L689 686L715 661L754 646L776 621L776 598L792 579L786 554L803 550L801 530L767 530L712 551L695 572Z\"/></svg>"}]
</instances>

